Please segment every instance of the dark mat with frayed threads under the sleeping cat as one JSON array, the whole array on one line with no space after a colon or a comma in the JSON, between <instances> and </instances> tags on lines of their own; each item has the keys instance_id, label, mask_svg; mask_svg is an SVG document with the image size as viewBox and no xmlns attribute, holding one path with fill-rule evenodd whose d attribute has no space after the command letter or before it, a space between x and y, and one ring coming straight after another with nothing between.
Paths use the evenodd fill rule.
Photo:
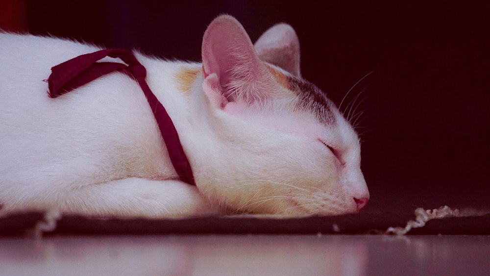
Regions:
<instances>
[{"instance_id":1,"label":"dark mat with frayed threads under the sleeping cat","mask_svg":"<svg viewBox=\"0 0 490 276\"><path fill-rule=\"evenodd\" d=\"M121 234L381 234L389 227L405 227L415 215L360 213L331 217L275 219L205 217L181 220L100 219L64 216L44 235ZM0 219L0 235L22 236L43 220L41 213L15 214ZM408 234L490 235L490 214L430 220Z\"/></svg>"}]
</instances>

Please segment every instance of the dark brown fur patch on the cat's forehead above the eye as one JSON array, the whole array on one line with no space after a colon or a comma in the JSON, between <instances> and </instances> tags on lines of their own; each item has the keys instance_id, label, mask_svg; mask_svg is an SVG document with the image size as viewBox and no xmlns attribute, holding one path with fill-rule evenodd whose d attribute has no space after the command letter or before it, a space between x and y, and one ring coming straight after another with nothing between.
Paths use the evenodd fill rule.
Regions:
<instances>
[{"instance_id":1,"label":"dark brown fur patch on the cat's forehead above the eye","mask_svg":"<svg viewBox=\"0 0 490 276\"><path fill-rule=\"evenodd\" d=\"M334 125L336 123L335 116L331 110L334 105L327 98L326 93L304 79L288 76L288 82L289 89L299 96L299 100L295 105L296 110L314 113L319 122L324 125Z\"/></svg>"}]
</instances>

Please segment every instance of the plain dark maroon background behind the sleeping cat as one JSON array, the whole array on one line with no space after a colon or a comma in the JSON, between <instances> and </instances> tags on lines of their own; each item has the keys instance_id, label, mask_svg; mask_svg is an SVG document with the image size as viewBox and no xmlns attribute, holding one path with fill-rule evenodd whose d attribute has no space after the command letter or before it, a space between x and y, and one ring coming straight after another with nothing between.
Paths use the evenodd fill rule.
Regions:
<instances>
[{"instance_id":1,"label":"plain dark maroon background behind the sleeping cat","mask_svg":"<svg viewBox=\"0 0 490 276\"><path fill-rule=\"evenodd\" d=\"M197 61L222 13L252 41L289 23L303 76L336 104L374 71L345 100L362 92L365 212L490 207L490 4L338 2L1 1L0 28Z\"/></svg>"}]
</instances>

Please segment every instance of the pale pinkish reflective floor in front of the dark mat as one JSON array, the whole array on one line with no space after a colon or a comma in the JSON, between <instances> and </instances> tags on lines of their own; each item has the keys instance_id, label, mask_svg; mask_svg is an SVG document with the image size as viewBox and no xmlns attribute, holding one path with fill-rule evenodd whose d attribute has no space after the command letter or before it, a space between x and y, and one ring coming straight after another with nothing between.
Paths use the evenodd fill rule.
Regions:
<instances>
[{"instance_id":1,"label":"pale pinkish reflective floor in front of the dark mat","mask_svg":"<svg viewBox=\"0 0 490 276\"><path fill-rule=\"evenodd\" d=\"M490 236L0 238L1 275L490 275Z\"/></svg>"}]
</instances>

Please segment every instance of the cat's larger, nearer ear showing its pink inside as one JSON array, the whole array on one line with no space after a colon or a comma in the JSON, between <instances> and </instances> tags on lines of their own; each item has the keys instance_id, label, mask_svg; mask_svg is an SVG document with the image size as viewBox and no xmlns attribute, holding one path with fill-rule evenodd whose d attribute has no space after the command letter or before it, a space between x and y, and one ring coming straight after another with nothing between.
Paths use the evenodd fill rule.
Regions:
<instances>
[{"instance_id":1,"label":"cat's larger, nearer ear showing its pink inside","mask_svg":"<svg viewBox=\"0 0 490 276\"><path fill-rule=\"evenodd\" d=\"M252 103L278 94L277 82L233 17L216 18L202 40L203 89L223 108L229 101Z\"/></svg>"}]
</instances>

